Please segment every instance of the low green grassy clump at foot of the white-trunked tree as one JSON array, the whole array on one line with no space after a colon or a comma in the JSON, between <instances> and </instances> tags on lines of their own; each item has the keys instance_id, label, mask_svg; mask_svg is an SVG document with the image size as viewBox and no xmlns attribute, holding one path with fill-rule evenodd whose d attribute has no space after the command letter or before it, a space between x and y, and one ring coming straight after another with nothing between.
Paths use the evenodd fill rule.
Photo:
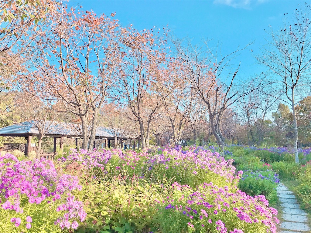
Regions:
<instances>
[{"instance_id":1,"label":"low green grassy clump at foot of the white-trunked tree","mask_svg":"<svg viewBox=\"0 0 311 233\"><path fill-rule=\"evenodd\" d=\"M281 178L291 179L299 174L300 165L295 162L280 161L272 163L271 166Z\"/></svg>"}]
</instances>

